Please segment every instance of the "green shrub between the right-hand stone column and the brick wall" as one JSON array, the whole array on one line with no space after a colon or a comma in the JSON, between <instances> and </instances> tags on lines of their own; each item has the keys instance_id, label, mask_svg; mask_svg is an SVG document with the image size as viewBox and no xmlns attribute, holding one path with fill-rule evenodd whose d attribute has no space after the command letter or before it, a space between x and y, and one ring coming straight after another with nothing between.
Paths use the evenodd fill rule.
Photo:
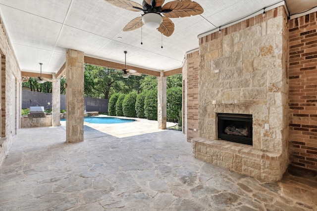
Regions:
<instances>
[{"instance_id":1,"label":"green shrub between the right-hand stone column and the brick wall","mask_svg":"<svg viewBox=\"0 0 317 211\"><path fill-rule=\"evenodd\" d=\"M171 87L166 90L166 117L168 121L178 122L179 111L182 110L182 88Z\"/></svg>"}]
</instances>

